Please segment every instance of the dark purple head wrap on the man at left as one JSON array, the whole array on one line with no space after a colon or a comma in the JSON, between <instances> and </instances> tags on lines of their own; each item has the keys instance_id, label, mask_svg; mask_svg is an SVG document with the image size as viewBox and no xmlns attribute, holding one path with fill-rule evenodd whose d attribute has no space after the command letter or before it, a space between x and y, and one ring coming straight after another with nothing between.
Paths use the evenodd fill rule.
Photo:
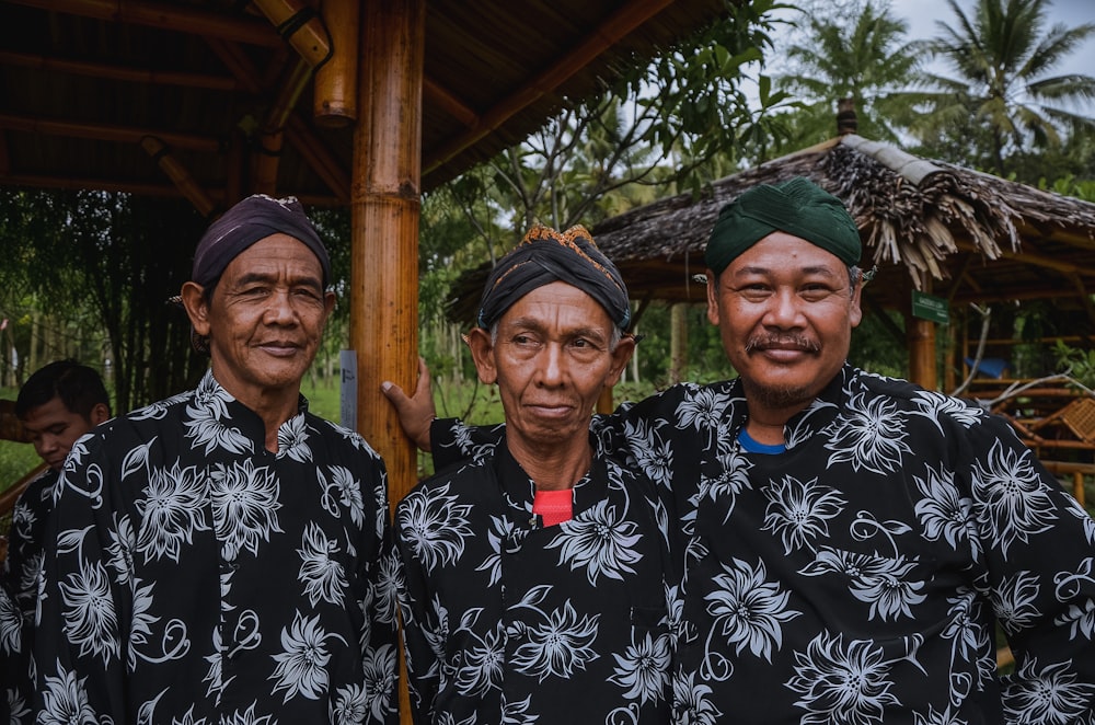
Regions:
<instances>
[{"instance_id":1,"label":"dark purple head wrap on the man at left","mask_svg":"<svg viewBox=\"0 0 1095 725\"><path fill-rule=\"evenodd\" d=\"M277 233L288 234L312 250L323 267L323 287L326 288L331 258L300 202L292 196L275 199L265 194L249 196L209 225L194 253L191 278L207 287L241 252Z\"/></svg>"}]
</instances>

